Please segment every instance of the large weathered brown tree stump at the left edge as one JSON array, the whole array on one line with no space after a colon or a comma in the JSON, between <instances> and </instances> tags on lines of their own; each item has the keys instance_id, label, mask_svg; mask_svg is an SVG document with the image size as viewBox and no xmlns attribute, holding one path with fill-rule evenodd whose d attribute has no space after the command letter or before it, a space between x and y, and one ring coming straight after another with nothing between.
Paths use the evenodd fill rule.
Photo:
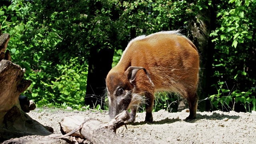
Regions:
<instances>
[{"instance_id":1,"label":"large weathered brown tree stump at the left edge","mask_svg":"<svg viewBox=\"0 0 256 144\"><path fill-rule=\"evenodd\" d=\"M12 63L10 52L5 52L9 40L10 35L0 31L0 142L26 135L50 135L51 132L20 107L19 96L31 81L24 79L25 69ZM33 103L28 106L29 110L34 106Z\"/></svg>"}]
</instances>

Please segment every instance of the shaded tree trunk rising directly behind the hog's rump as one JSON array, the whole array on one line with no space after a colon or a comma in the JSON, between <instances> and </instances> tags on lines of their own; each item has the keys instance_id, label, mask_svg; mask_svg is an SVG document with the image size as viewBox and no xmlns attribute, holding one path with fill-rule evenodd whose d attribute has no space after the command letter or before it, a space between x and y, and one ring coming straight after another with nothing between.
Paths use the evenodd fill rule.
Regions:
<instances>
[{"instance_id":1,"label":"shaded tree trunk rising directly behind the hog's rump","mask_svg":"<svg viewBox=\"0 0 256 144\"><path fill-rule=\"evenodd\" d=\"M188 4L197 4L197 0L188 0ZM215 30L216 12L215 12L215 0L212 0L212 4L209 6L206 0L204 5L208 8L198 10L195 16L192 16L188 22L188 38L192 40L195 46L198 48L200 54L200 84L198 86L198 97L202 100L198 104L198 110L205 111L210 108L210 100L204 100L211 94L211 76L214 43L210 37L212 30Z\"/></svg>"}]
</instances>

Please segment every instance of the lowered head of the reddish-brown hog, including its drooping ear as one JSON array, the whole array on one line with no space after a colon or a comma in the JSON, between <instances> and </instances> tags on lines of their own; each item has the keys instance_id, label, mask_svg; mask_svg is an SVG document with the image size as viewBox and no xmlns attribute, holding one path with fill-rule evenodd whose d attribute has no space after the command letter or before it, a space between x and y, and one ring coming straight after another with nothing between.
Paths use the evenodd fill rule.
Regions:
<instances>
[{"instance_id":1,"label":"lowered head of the reddish-brown hog, including its drooping ear","mask_svg":"<svg viewBox=\"0 0 256 144\"><path fill-rule=\"evenodd\" d=\"M145 68L130 66L127 70L118 70L112 68L106 78L106 87L109 101L109 115L113 119L117 114L123 110L131 108L134 103L134 81L138 70L143 69L150 79ZM151 79L150 79L151 81ZM138 103L138 102L136 102Z\"/></svg>"}]
</instances>

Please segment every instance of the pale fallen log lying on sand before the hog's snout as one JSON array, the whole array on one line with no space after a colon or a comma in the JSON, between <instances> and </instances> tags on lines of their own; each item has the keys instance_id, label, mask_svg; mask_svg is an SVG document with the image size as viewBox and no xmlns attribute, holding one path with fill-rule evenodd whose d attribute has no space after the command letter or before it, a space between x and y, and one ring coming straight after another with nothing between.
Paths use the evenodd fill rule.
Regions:
<instances>
[{"instance_id":1,"label":"pale fallen log lying on sand before the hog's snout","mask_svg":"<svg viewBox=\"0 0 256 144\"><path fill-rule=\"evenodd\" d=\"M85 116L66 116L60 122L61 132L65 135L56 138L71 135L88 139L93 144L129 144L132 142L116 135L116 129L125 125L124 122L129 118L130 114L127 110L118 114L108 124Z\"/></svg>"}]
</instances>

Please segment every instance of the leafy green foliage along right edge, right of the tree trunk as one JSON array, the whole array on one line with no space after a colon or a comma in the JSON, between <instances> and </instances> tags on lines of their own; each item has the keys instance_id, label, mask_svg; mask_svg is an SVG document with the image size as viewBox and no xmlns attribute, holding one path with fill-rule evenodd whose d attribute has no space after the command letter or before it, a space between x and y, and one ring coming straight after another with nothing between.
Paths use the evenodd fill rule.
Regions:
<instances>
[{"instance_id":1,"label":"leafy green foliage along right edge, right of the tree trunk","mask_svg":"<svg viewBox=\"0 0 256 144\"><path fill-rule=\"evenodd\" d=\"M210 96L215 108L232 110L243 105L245 111L255 109L255 8L254 0L223 0L218 5L218 26L211 34L216 43L212 66L218 94ZM228 90L230 85L232 90Z\"/></svg>"}]
</instances>

